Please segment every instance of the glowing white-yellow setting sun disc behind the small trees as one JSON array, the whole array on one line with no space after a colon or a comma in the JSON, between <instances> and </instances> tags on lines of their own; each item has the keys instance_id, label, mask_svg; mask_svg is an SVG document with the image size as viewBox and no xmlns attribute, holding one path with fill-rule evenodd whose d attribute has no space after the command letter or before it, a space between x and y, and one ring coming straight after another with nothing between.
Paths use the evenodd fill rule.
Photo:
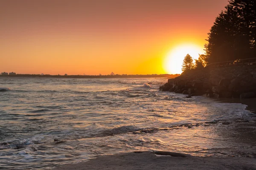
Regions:
<instances>
[{"instance_id":1,"label":"glowing white-yellow setting sun disc behind the small trees","mask_svg":"<svg viewBox=\"0 0 256 170\"><path fill-rule=\"evenodd\" d=\"M194 44L178 45L168 52L164 60L164 69L169 74L181 74L183 59L189 54L193 59L198 59L199 54L204 54L203 48Z\"/></svg>"}]
</instances>

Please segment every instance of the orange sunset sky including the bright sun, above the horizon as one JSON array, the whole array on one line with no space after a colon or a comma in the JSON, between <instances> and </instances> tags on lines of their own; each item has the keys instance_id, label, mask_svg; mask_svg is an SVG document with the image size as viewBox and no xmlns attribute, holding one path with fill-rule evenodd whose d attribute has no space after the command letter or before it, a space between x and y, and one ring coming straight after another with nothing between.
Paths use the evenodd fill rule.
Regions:
<instances>
[{"instance_id":1,"label":"orange sunset sky including the bright sun, above the horizon","mask_svg":"<svg viewBox=\"0 0 256 170\"><path fill-rule=\"evenodd\" d=\"M227 4L0 0L0 72L177 74L183 53L204 53L207 33Z\"/></svg>"}]
</instances>

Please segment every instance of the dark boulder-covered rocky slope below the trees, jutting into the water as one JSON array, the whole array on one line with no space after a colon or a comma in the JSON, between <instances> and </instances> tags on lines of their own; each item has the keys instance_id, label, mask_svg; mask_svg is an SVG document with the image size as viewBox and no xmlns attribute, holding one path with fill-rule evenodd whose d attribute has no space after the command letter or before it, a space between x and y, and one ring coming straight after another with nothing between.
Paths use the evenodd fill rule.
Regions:
<instances>
[{"instance_id":1,"label":"dark boulder-covered rocky slope below the trees, jutting into the water","mask_svg":"<svg viewBox=\"0 0 256 170\"><path fill-rule=\"evenodd\" d=\"M231 65L190 70L168 79L160 90L186 94L187 97L253 98L256 97L256 66Z\"/></svg>"}]
</instances>

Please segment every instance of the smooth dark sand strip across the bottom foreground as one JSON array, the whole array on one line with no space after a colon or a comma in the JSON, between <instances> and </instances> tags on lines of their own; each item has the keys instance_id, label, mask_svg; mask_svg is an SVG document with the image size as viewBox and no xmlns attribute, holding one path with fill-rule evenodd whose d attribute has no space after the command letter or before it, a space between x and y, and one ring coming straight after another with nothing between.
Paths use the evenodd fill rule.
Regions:
<instances>
[{"instance_id":1,"label":"smooth dark sand strip across the bottom foreground","mask_svg":"<svg viewBox=\"0 0 256 170\"><path fill-rule=\"evenodd\" d=\"M99 156L87 162L57 167L54 170L256 170L255 158L213 158L180 155L157 156L141 153L119 153Z\"/></svg>"}]
</instances>

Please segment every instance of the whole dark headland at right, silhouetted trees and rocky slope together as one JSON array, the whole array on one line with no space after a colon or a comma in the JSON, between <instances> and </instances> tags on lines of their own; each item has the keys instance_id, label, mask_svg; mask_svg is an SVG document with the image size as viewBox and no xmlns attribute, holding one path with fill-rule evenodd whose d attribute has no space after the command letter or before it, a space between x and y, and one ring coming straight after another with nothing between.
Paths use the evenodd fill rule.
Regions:
<instances>
[{"instance_id":1,"label":"whole dark headland at right, silhouetted trees and rocky slope together","mask_svg":"<svg viewBox=\"0 0 256 170\"><path fill-rule=\"evenodd\" d=\"M160 87L191 96L256 97L256 1L230 0L215 19L205 45L206 54L183 60L183 73ZM253 62L243 59L254 58ZM228 62L227 62L228 61ZM213 65L227 62L223 65Z\"/></svg>"}]
</instances>

